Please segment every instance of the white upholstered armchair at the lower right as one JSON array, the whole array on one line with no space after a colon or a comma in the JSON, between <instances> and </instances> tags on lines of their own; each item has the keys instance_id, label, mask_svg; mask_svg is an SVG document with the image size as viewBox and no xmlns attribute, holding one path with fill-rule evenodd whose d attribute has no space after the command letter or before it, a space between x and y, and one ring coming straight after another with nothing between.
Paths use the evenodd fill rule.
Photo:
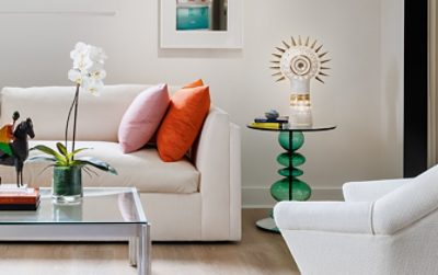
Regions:
<instances>
[{"instance_id":1,"label":"white upholstered armchair at the lower right","mask_svg":"<svg viewBox=\"0 0 438 275\"><path fill-rule=\"evenodd\" d=\"M438 274L438 165L350 182L345 202L280 202L274 217L303 275Z\"/></svg>"}]
</instances>

